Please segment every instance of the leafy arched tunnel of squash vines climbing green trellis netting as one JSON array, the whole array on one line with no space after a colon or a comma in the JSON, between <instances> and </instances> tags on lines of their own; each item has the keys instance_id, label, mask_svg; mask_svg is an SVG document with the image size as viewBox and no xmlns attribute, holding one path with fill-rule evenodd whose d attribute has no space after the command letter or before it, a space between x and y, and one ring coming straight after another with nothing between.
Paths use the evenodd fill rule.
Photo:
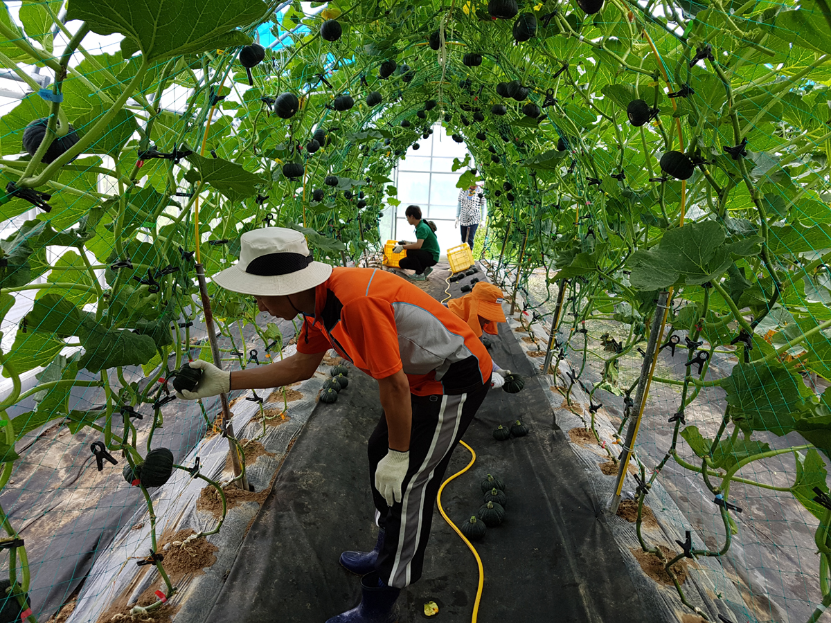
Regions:
<instances>
[{"instance_id":1,"label":"leafy arched tunnel of squash vines climbing green trellis netting","mask_svg":"<svg viewBox=\"0 0 831 623\"><path fill-rule=\"evenodd\" d=\"M317 259L366 264L381 214L408 201L397 161L441 125L470 150L459 188L482 181L489 199L477 256L557 326L543 350L572 386L623 399L614 462L651 341L677 349L678 365L648 370L639 508L681 473L671 493L696 483L716 519L691 554L751 576L732 539L804 543L765 559L779 606L745 587L746 619L831 606L825 0L22 0L0 7L0 66L2 94L21 93L0 109L0 547L16 620L54 614L33 602L27 617L52 560L27 556L16 508L51 495L25 484L32 461L81 465L96 442L152 514L146 472L170 470L153 443L165 380L211 360L191 339L197 262L209 279L241 233L272 225ZM247 326L279 350L250 297L208 288L224 335ZM86 434L82 451L64 429ZM756 492L788 512L739 513ZM164 579L153 610L175 586L149 562Z\"/></svg>"}]
</instances>

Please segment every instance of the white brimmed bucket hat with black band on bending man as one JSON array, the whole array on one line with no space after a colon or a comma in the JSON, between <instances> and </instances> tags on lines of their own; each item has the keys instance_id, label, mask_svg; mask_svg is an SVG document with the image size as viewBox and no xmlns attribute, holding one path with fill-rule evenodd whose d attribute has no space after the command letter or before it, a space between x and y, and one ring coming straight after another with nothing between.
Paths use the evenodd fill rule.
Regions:
<instances>
[{"instance_id":1,"label":"white brimmed bucket hat with black band on bending man","mask_svg":"<svg viewBox=\"0 0 831 623\"><path fill-rule=\"evenodd\" d=\"M312 261L306 238L293 229L264 227L243 233L239 262L211 277L231 292L282 297L319 286L332 267Z\"/></svg>"}]
</instances>

